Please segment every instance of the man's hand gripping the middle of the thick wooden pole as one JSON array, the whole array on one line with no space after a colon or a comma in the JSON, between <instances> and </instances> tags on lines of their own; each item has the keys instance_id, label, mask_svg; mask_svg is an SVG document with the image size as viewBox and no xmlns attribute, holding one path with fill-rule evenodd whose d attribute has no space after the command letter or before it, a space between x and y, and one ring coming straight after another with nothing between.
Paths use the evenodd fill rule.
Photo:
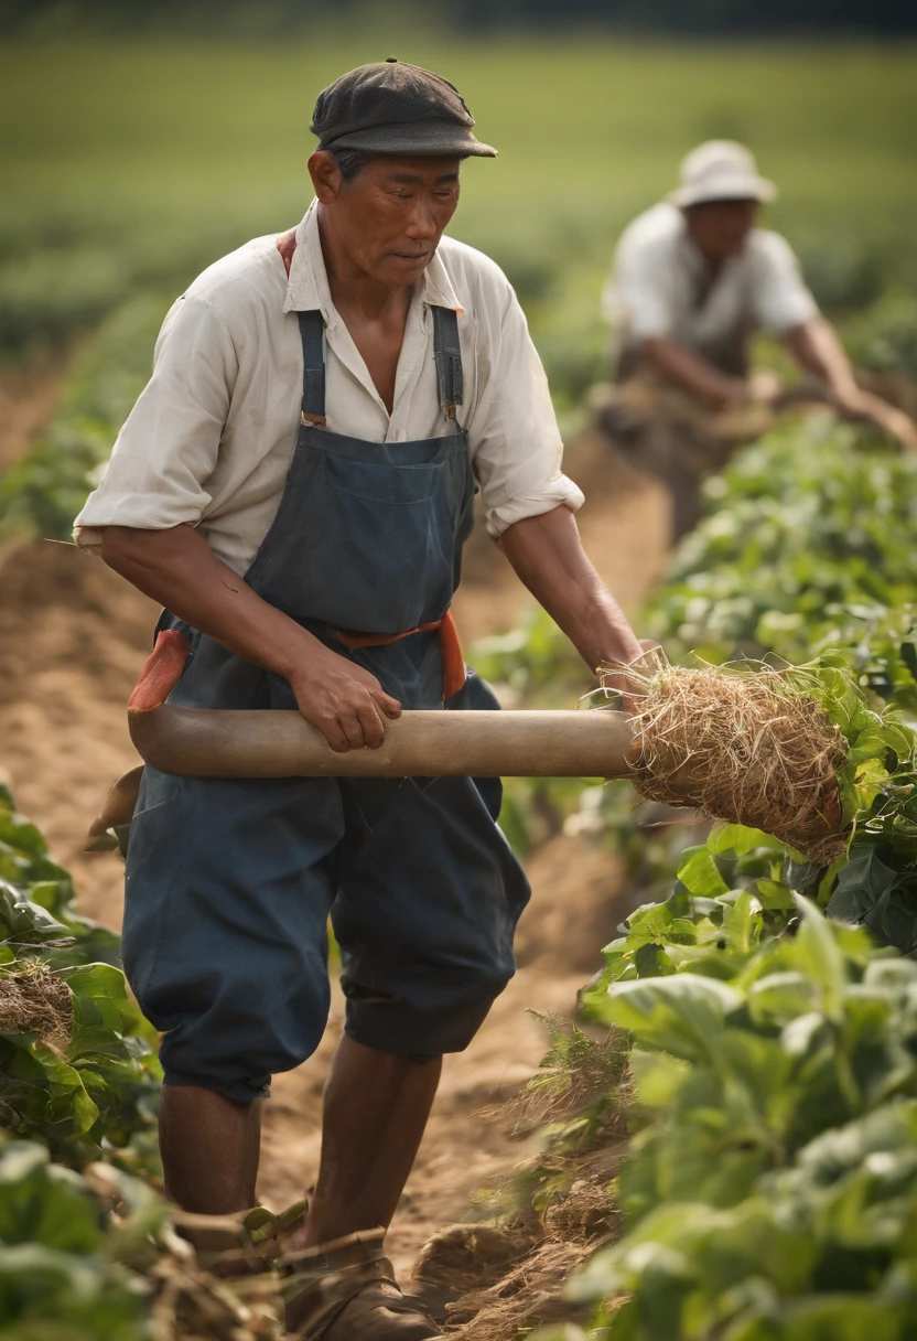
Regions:
<instances>
[{"instance_id":1,"label":"man's hand gripping the middle of the thick wooden pole","mask_svg":"<svg viewBox=\"0 0 917 1341\"><path fill-rule=\"evenodd\" d=\"M287 679L299 711L332 750L378 750L386 721L401 716L401 704L369 670L330 652L320 642L303 649Z\"/></svg>"}]
</instances>

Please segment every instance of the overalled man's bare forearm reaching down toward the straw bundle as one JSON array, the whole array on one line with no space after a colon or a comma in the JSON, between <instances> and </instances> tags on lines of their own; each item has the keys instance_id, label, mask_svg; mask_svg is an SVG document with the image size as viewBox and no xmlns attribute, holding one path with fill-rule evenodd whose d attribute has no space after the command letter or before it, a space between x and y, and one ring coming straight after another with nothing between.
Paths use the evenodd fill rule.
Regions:
<instances>
[{"instance_id":1,"label":"overalled man's bare forearm reaching down toward the straw bundle","mask_svg":"<svg viewBox=\"0 0 917 1341\"><path fill-rule=\"evenodd\" d=\"M520 581L593 673L606 662L629 662L641 654L621 606L586 557L570 508L516 522L503 532L501 546Z\"/></svg>"}]
</instances>

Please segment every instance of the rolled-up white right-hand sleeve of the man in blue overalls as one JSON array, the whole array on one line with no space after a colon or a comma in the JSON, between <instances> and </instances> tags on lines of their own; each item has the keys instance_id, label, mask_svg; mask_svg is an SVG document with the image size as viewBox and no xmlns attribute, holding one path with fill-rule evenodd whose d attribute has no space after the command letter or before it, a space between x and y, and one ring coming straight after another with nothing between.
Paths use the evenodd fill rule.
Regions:
<instances>
[{"instance_id":1,"label":"rolled-up white right-hand sleeve of the man in blue overalls","mask_svg":"<svg viewBox=\"0 0 917 1341\"><path fill-rule=\"evenodd\" d=\"M526 315L500 279L500 311L485 322L477 346L479 396L468 424L484 520L495 539L524 518L562 504L575 512L585 502L560 468L560 430Z\"/></svg>"}]
</instances>

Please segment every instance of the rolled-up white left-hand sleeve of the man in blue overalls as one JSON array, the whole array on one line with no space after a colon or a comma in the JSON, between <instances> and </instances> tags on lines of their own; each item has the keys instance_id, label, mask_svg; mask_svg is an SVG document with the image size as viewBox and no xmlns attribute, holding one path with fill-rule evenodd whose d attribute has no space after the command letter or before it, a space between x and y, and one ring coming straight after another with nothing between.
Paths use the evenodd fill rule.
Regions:
<instances>
[{"instance_id":1,"label":"rolled-up white left-hand sleeve of the man in blue overalls","mask_svg":"<svg viewBox=\"0 0 917 1341\"><path fill-rule=\"evenodd\" d=\"M106 526L162 531L201 520L236 375L220 314L204 299L180 298L162 325L153 377L74 523L80 548L98 550Z\"/></svg>"}]
</instances>

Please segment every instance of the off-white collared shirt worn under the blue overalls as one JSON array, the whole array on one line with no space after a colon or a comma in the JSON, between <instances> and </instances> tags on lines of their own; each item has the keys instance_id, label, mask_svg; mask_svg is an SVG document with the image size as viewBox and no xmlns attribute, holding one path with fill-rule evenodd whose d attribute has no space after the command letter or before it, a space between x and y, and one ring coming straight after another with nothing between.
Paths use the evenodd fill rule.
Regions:
<instances>
[{"instance_id":1,"label":"off-white collared shirt worn under the blue overalls","mask_svg":"<svg viewBox=\"0 0 917 1341\"><path fill-rule=\"evenodd\" d=\"M296 445L303 355L298 311L326 322L327 426L373 443L450 432L440 406L430 304L458 312L468 430L492 536L583 495L560 472L563 447L526 316L500 268L450 237L417 283L387 413L328 290L310 207L290 278L276 236L205 270L166 315L151 381L118 434L99 487L75 522L98 551L98 527L166 530L189 522L244 574L280 506Z\"/></svg>"}]
</instances>

